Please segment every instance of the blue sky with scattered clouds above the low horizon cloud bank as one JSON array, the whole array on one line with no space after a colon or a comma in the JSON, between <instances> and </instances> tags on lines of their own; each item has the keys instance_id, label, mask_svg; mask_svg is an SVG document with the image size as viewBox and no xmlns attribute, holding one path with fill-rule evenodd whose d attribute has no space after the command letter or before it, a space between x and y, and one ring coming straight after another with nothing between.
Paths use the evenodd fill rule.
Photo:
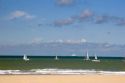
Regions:
<instances>
[{"instance_id":1,"label":"blue sky with scattered clouds above the low horizon cloud bank","mask_svg":"<svg viewBox=\"0 0 125 83\"><path fill-rule=\"evenodd\" d=\"M0 0L0 45L125 44L125 0Z\"/></svg>"}]
</instances>

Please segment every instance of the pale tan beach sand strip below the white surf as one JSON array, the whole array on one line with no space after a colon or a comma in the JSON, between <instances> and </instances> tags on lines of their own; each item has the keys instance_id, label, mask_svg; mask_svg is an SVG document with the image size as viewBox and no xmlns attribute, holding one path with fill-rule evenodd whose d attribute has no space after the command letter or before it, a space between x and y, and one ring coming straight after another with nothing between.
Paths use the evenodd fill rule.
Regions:
<instances>
[{"instance_id":1,"label":"pale tan beach sand strip below the white surf","mask_svg":"<svg viewBox=\"0 0 125 83\"><path fill-rule=\"evenodd\" d=\"M123 75L0 75L0 83L125 83Z\"/></svg>"}]
</instances>

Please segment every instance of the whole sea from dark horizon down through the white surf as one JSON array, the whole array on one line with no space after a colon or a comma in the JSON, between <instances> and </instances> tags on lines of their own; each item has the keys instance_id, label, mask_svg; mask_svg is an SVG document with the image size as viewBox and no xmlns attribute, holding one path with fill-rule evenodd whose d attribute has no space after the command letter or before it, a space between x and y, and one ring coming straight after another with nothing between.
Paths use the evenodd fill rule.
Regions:
<instances>
[{"instance_id":1,"label":"whole sea from dark horizon down through the white surf","mask_svg":"<svg viewBox=\"0 0 125 83\"><path fill-rule=\"evenodd\" d=\"M0 56L0 74L120 74L125 75L124 57Z\"/></svg>"}]
</instances>

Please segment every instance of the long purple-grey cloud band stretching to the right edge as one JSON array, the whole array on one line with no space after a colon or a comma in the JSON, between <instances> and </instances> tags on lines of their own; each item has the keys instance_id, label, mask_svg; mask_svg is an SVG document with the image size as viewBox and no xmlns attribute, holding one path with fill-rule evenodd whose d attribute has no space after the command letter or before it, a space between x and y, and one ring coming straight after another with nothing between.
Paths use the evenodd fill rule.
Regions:
<instances>
[{"instance_id":1,"label":"long purple-grey cloud band stretching to the right edge","mask_svg":"<svg viewBox=\"0 0 125 83\"><path fill-rule=\"evenodd\" d=\"M88 8L84 9L79 15L70 16L65 19L54 20L53 25L57 27L62 27L81 22L91 22L95 24L112 23L115 25L125 26L124 17L112 16L109 14L98 15Z\"/></svg>"}]
</instances>

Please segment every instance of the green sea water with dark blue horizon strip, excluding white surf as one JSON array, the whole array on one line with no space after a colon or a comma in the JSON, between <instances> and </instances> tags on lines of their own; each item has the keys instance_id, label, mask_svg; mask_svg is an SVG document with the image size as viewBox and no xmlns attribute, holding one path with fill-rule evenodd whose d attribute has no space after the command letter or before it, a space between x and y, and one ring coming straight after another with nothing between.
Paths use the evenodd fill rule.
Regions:
<instances>
[{"instance_id":1,"label":"green sea water with dark blue horizon strip, excluding white surf","mask_svg":"<svg viewBox=\"0 0 125 83\"><path fill-rule=\"evenodd\" d=\"M0 70L31 70L31 69L84 69L104 71L125 71L123 57L99 57L100 62L85 61L83 56L0 56Z\"/></svg>"}]
</instances>

